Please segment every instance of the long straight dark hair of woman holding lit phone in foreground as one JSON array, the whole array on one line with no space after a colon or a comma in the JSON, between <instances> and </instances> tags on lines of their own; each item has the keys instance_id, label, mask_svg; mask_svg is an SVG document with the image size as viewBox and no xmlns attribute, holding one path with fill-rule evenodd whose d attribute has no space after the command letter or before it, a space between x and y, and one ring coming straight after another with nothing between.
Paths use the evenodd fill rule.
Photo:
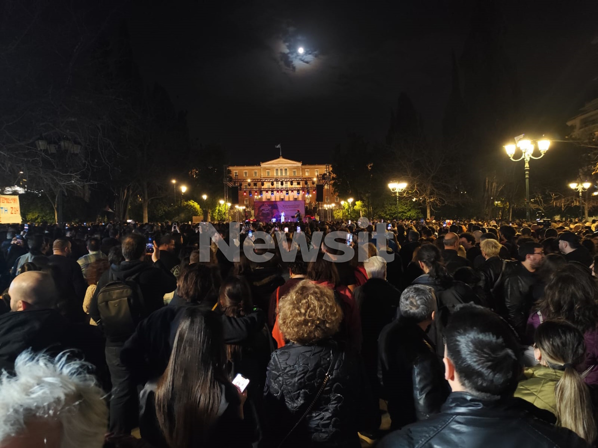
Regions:
<instances>
[{"instance_id":1,"label":"long straight dark hair of woman holding lit phone in foreground","mask_svg":"<svg viewBox=\"0 0 598 448\"><path fill-rule=\"evenodd\" d=\"M171 447L204 446L228 382L220 318L185 309L166 371L155 391L155 413Z\"/></svg>"}]
</instances>

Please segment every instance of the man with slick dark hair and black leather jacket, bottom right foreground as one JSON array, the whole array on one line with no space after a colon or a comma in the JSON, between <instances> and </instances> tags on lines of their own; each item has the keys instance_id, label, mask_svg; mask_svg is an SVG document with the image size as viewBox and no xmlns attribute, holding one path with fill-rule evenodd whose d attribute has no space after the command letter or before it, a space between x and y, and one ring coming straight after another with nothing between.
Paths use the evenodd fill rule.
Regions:
<instances>
[{"instance_id":1,"label":"man with slick dark hair and black leather jacket, bottom right foreground","mask_svg":"<svg viewBox=\"0 0 598 448\"><path fill-rule=\"evenodd\" d=\"M523 368L517 335L487 308L463 305L445 332L445 378L452 390L440 413L392 432L378 448L537 447L588 444L554 416L514 398Z\"/></svg>"}]
</instances>

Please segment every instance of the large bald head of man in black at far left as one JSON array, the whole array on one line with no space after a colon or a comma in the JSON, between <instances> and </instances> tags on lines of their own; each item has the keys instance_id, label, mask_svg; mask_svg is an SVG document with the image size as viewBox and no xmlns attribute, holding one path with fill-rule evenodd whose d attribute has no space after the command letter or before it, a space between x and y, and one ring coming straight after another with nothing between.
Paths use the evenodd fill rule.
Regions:
<instances>
[{"instance_id":1,"label":"large bald head of man in black at far left","mask_svg":"<svg viewBox=\"0 0 598 448\"><path fill-rule=\"evenodd\" d=\"M46 272L28 271L17 275L8 288L8 295L11 311L56 307L56 285Z\"/></svg>"}]
</instances>

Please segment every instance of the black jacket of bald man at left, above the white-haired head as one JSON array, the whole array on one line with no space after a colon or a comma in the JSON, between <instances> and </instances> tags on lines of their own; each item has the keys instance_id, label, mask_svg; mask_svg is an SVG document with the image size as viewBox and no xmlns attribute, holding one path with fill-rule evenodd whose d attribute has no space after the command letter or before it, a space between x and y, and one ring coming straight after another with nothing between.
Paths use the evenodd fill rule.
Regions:
<instances>
[{"instance_id":1,"label":"black jacket of bald man at left, above the white-haired head","mask_svg":"<svg viewBox=\"0 0 598 448\"><path fill-rule=\"evenodd\" d=\"M73 349L73 355L96 367L96 376L109 378L102 332L89 324L74 324L57 309L14 311L0 315L0 372L12 372L14 360L26 349L55 356Z\"/></svg>"}]
</instances>

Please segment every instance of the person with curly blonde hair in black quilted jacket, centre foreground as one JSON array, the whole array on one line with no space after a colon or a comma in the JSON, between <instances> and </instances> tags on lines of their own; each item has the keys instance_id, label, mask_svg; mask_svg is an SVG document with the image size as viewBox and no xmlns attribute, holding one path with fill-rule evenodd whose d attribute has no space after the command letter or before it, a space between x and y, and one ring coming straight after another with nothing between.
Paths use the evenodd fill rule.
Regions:
<instances>
[{"instance_id":1,"label":"person with curly blonde hair in black quilted jacket, centre foreground","mask_svg":"<svg viewBox=\"0 0 598 448\"><path fill-rule=\"evenodd\" d=\"M268 366L264 446L358 448L357 432L379 427L378 401L361 360L330 339L341 320L332 290L307 280L280 302L280 329L290 343L272 354Z\"/></svg>"}]
</instances>

